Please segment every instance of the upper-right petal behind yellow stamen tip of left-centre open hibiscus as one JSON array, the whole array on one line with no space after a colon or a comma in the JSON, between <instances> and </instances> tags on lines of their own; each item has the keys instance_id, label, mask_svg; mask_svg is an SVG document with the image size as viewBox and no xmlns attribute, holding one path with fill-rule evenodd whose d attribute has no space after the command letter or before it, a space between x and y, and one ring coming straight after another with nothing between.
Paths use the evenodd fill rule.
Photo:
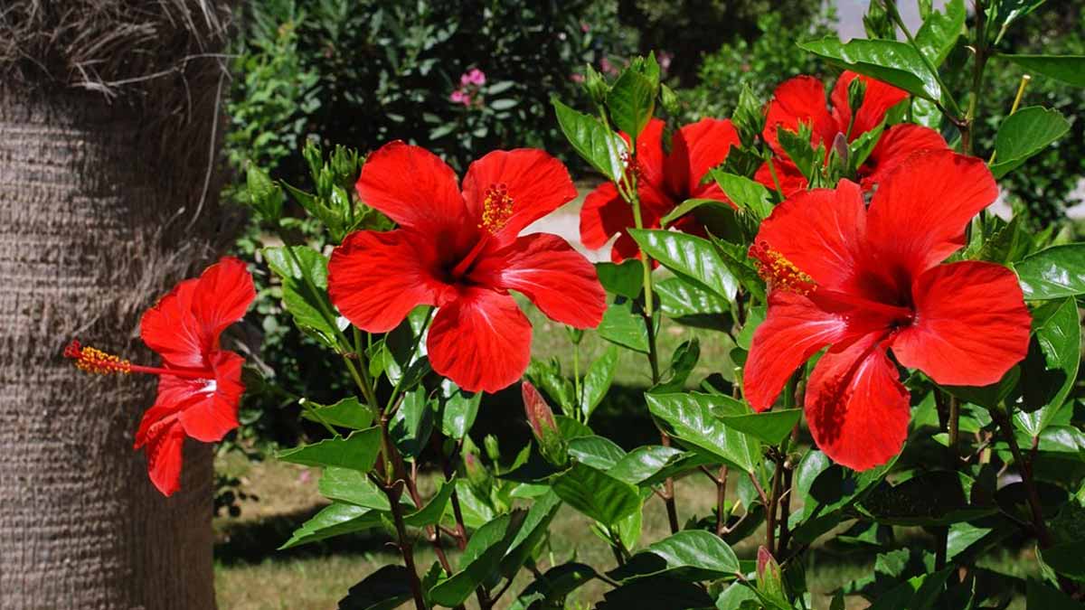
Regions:
<instances>
[{"instance_id":1,"label":"upper-right petal behind yellow stamen tip of left-centre open hibiscus","mask_svg":"<svg viewBox=\"0 0 1085 610\"><path fill-rule=\"evenodd\" d=\"M499 185L505 186L508 199L490 196L487 204L490 189ZM573 201L576 194L569 169L537 149L494 151L472 163L463 178L463 199L471 217L501 243L511 242L524 227Z\"/></svg>"}]
</instances>

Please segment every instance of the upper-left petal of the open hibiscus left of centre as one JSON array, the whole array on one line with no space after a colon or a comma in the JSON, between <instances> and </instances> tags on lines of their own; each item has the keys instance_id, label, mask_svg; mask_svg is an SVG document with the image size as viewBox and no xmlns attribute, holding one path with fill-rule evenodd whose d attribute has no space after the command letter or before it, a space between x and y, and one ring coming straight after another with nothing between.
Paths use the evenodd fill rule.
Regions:
<instances>
[{"instance_id":1,"label":"upper-left petal of the open hibiscus left of centre","mask_svg":"<svg viewBox=\"0 0 1085 610\"><path fill-rule=\"evenodd\" d=\"M355 185L367 205L423 232L465 219L456 173L430 151L394 141L366 158Z\"/></svg>"}]
</instances>

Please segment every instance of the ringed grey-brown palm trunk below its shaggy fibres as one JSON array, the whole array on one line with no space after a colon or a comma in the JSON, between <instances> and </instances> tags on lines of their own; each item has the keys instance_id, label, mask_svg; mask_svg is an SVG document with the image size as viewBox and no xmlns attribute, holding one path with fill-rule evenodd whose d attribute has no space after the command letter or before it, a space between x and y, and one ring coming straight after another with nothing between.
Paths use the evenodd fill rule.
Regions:
<instances>
[{"instance_id":1,"label":"ringed grey-brown palm trunk below its shaggy fibres","mask_svg":"<svg viewBox=\"0 0 1085 610\"><path fill-rule=\"evenodd\" d=\"M77 336L158 365L139 316L221 241L203 220L215 107L196 104L168 141L150 111L0 84L4 610L215 607L212 447L188 441L181 491L162 497L132 449L155 378L90 376L61 355Z\"/></svg>"}]
</instances>

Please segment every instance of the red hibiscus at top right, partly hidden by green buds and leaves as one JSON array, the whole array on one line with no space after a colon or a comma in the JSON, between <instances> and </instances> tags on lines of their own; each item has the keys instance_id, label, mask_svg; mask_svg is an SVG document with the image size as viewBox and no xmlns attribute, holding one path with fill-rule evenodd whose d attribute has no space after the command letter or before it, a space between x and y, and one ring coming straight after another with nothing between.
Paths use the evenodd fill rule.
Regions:
<instances>
[{"instance_id":1,"label":"red hibiscus at top right, partly hidden by green buds and leaves","mask_svg":"<svg viewBox=\"0 0 1085 610\"><path fill-rule=\"evenodd\" d=\"M859 112L853 117L847 103L847 89L855 78L866 84L866 93ZM764 138L776 153L774 167L783 195L791 196L806 190L806 178L780 147L777 138L779 127L797 132L801 123L809 125L814 147L825 144L828 152L838 135L843 135L848 142L854 141L881 125L890 109L907 97L907 92L892 85L853 72L845 72L837 79L831 110L826 107L825 85L813 76L796 76L777 87L768 103ZM921 125L893 125L882 132L870 156L859 167L859 182L864 190L869 190L911 154L947 149L945 139L933 129ZM769 189L776 189L767 163L757 170L754 179Z\"/></svg>"}]
</instances>

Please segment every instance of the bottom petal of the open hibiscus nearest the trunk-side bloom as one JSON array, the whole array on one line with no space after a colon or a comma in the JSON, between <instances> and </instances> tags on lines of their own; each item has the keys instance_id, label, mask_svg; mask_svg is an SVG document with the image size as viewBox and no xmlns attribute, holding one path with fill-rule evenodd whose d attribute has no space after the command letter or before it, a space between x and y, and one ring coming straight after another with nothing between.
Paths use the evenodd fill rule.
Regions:
<instances>
[{"instance_id":1,"label":"bottom petal of the open hibiscus nearest the trunk-side bloom","mask_svg":"<svg viewBox=\"0 0 1085 610\"><path fill-rule=\"evenodd\" d=\"M426 352L438 374L468 392L497 392L524 374L531 361L532 325L508 294L464 289L437 310Z\"/></svg>"}]
</instances>

